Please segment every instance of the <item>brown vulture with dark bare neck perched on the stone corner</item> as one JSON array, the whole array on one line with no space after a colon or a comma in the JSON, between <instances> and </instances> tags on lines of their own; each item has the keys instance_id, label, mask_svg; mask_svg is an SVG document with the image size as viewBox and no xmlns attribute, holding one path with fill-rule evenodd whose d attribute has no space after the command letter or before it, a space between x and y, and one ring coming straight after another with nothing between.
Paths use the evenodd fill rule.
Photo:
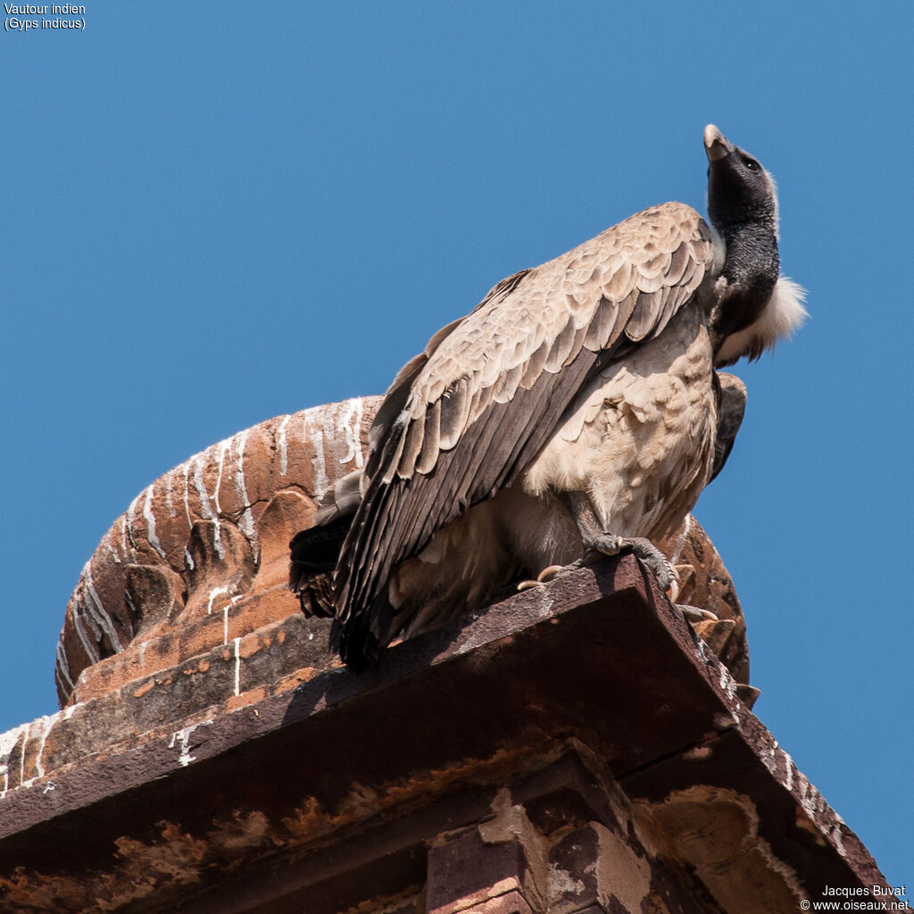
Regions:
<instances>
[{"instance_id":1,"label":"brown vulture with dark bare neck perched on the stone corner","mask_svg":"<svg viewBox=\"0 0 914 914\"><path fill-rule=\"evenodd\" d=\"M664 203L494 286L391 384L365 468L291 545L306 613L360 671L520 576L669 534L727 459L758 358L806 315L781 276L771 175L704 132L707 215ZM734 420L734 416L736 416Z\"/></svg>"}]
</instances>

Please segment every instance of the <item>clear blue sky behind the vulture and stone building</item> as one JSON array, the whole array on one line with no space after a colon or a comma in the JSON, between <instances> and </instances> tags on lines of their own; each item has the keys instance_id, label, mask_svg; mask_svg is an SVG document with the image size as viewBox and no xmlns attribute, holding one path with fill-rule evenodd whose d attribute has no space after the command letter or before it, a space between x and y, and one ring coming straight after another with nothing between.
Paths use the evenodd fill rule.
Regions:
<instances>
[{"instance_id":1,"label":"clear blue sky behind the vulture and stone building","mask_svg":"<svg viewBox=\"0 0 914 914\"><path fill-rule=\"evenodd\" d=\"M0 732L56 709L69 593L146 484L383 391L509 273L703 209L715 122L778 179L812 317L736 369L696 515L756 712L914 885L914 7L86 6L83 33L0 37Z\"/></svg>"}]
</instances>

